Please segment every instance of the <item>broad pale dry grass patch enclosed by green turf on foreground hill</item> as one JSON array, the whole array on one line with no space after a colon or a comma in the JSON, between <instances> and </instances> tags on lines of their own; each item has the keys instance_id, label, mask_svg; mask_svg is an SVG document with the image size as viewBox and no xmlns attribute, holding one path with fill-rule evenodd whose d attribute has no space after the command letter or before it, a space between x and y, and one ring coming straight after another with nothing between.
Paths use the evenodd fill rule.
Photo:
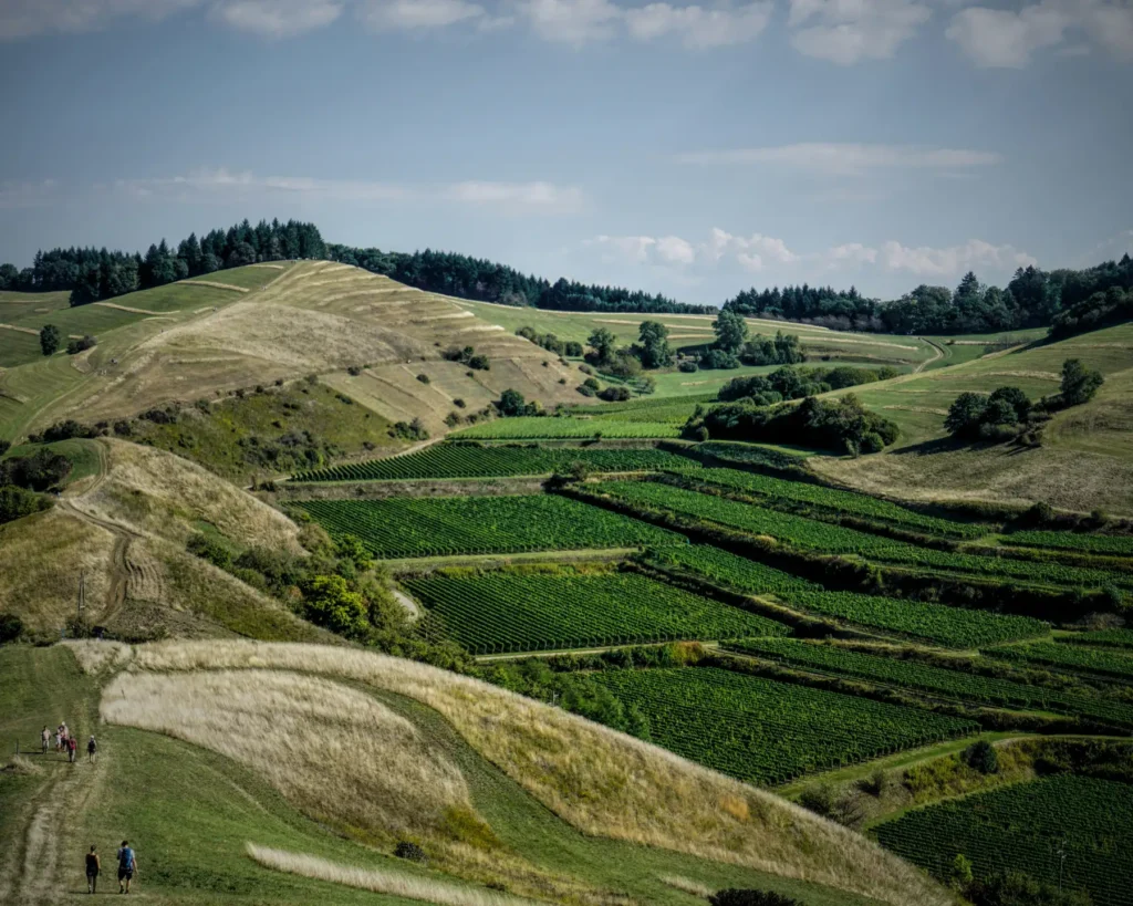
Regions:
<instances>
[{"instance_id":1,"label":"broad pale dry grass patch enclosed by green turf on foreground hill","mask_svg":"<svg viewBox=\"0 0 1133 906\"><path fill-rule=\"evenodd\" d=\"M275 670L125 673L107 687L100 712L227 755L308 814L366 837L440 836L454 810L474 820L460 770L412 724L329 680Z\"/></svg>"}]
</instances>

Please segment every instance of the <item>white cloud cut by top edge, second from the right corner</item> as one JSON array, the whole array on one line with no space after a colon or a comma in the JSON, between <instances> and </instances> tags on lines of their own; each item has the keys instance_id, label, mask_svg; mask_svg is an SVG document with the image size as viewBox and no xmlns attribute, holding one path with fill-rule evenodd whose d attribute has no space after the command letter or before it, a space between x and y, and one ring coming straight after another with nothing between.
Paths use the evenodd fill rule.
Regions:
<instances>
[{"instance_id":1,"label":"white cloud cut by top edge, second from the right corner","mask_svg":"<svg viewBox=\"0 0 1133 906\"><path fill-rule=\"evenodd\" d=\"M885 60L931 15L917 0L791 0L791 43L840 66Z\"/></svg>"}]
</instances>

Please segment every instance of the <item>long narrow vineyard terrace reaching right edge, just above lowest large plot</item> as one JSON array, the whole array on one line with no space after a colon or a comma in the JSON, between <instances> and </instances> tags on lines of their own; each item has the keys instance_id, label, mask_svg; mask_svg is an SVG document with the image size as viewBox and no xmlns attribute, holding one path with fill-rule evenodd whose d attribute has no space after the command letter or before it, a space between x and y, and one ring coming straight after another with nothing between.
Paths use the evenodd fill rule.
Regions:
<instances>
[{"instance_id":1,"label":"long narrow vineyard terrace reaching right edge, just above lowest large plot","mask_svg":"<svg viewBox=\"0 0 1133 906\"><path fill-rule=\"evenodd\" d=\"M897 689L919 689L977 704L1058 711L1094 718L1111 726L1133 727L1133 706L1111 699L1072 695L1043 686L792 639L750 639L732 642L729 648L823 673L872 680Z\"/></svg>"}]
</instances>

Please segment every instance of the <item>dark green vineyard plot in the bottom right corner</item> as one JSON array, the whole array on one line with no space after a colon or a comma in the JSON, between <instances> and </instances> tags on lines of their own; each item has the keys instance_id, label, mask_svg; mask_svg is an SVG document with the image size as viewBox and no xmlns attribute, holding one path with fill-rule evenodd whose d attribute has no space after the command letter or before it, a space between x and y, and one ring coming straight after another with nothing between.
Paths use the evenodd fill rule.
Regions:
<instances>
[{"instance_id":1,"label":"dark green vineyard plot in the bottom right corner","mask_svg":"<svg viewBox=\"0 0 1133 906\"><path fill-rule=\"evenodd\" d=\"M973 874L1024 871L1083 889L1097 906L1133 904L1133 786L1071 775L906 812L876 829L888 849L946 878L956 855Z\"/></svg>"}]
</instances>

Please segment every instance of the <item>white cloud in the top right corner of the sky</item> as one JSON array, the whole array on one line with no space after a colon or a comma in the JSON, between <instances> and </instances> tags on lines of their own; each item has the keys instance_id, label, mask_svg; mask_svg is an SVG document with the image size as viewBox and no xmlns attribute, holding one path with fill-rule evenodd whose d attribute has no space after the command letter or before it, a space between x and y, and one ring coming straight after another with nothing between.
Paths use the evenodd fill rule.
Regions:
<instances>
[{"instance_id":1,"label":"white cloud in the top right corner of the sky","mask_svg":"<svg viewBox=\"0 0 1133 906\"><path fill-rule=\"evenodd\" d=\"M1133 59L1133 5L1128 0L1041 0L1021 9L969 7L947 32L977 66L1021 69L1038 51L1057 48L1079 57L1100 46ZM1076 43L1066 44L1073 35Z\"/></svg>"}]
</instances>

